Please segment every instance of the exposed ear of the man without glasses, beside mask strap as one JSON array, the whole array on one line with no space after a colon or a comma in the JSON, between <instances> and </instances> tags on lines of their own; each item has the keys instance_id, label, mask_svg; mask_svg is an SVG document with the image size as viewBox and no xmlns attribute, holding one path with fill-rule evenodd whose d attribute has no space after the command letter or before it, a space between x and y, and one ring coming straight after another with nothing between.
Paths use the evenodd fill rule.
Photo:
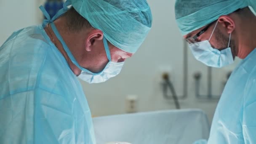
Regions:
<instances>
[{"instance_id":1,"label":"exposed ear of the man without glasses, beside mask strap","mask_svg":"<svg viewBox=\"0 0 256 144\"><path fill-rule=\"evenodd\" d=\"M92 46L94 45L95 41L103 39L103 32L99 29L93 29L91 32L88 33L88 36L85 40L85 50L91 51Z\"/></svg>"}]
</instances>

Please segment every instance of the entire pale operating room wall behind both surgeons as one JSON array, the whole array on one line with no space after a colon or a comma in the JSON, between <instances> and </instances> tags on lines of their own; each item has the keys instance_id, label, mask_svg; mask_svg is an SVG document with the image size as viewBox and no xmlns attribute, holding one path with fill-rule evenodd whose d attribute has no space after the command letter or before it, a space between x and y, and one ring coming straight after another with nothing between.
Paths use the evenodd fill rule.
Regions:
<instances>
[{"instance_id":1,"label":"entire pale operating room wall behind both surgeons","mask_svg":"<svg viewBox=\"0 0 256 144\"><path fill-rule=\"evenodd\" d=\"M0 45L15 30L40 24L43 15L38 6L44 0L0 0ZM82 82L93 116L126 112L126 96L138 96L138 111L175 109L173 100L166 100L161 91L161 72L167 70L178 95L183 94L184 41L175 22L175 0L148 0L153 15L152 30L139 51L127 59L122 72L106 83ZM218 100L196 99L195 72L202 72L200 93L207 94L207 67L188 54L188 97L180 100L181 108L199 108L211 122ZM238 61L236 61L237 63ZM213 95L220 95L227 72L235 67L213 69Z\"/></svg>"}]
</instances>

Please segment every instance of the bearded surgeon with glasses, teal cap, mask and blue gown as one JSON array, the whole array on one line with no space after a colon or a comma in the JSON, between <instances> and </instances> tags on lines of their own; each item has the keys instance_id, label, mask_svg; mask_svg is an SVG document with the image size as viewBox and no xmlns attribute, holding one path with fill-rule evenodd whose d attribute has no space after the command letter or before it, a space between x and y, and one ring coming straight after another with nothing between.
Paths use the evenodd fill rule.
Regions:
<instances>
[{"instance_id":1,"label":"bearded surgeon with glasses, teal cap, mask and blue gown","mask_svg":"<svg viewBox=\"0 0 256 144\"><path fill-rule=\"evenodd\" d=\"M176 0L176 22L198 61L220 68L243 59L224 88L208 141L195 144L256 144L255 10L255 0Z\"/></svg>"}]
</instances>

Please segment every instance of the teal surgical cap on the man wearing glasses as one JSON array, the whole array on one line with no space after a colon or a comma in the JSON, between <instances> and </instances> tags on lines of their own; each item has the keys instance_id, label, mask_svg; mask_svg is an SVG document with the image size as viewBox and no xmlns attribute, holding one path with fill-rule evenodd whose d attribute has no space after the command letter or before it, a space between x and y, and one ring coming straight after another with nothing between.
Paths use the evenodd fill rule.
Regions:
<instances>
[{"instance_id":1,"label":"teal surgical cap on the man wearing glasses","mask_svg":"<svg viewBox=\"0 0 256 144\"><path fill-rule=\"evenodd\" d=\"M239 8L251 6L256 0L176 0L175 16L182 35L187 35Z\"/></svg>"}]
</instances>

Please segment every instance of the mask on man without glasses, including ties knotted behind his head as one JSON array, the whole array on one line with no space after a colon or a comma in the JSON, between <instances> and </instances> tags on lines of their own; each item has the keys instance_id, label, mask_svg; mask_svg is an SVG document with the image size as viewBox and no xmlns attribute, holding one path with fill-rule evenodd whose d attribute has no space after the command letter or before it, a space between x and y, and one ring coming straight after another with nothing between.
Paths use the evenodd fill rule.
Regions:
<instances>
[{"instance_id":1,"label":"mask on man without glasses, including ties knotted behind his head","mask_svg":"<svg viewBox=\"0 0 256 144\"><path fill-rule=\"evenodd\" d=\"M67 47L67 44L65 43L65 41L63 40L63 38L59 34L59 31L57 30L55 24L53 23L53 21L55 19L57 19L59 16L61 16L65 12L67 12L67 10L68 10L67 5L70 5L69 1L67 1L64 4L64 8L62 8L53 18L51 18L49 16L49 14L47 13L47 11L45 10L45 8L43 6L40 6L40 9L46 17L46 20L44 20L44 22L43 22L43 26L45 27L45 25L47 23L51 24L51 28L52 28L54 34L56 35L58 40L61 42L64 50L66 51L67 55L69 56L69 59L72 61L73 64L75 64L75 66L77 66L82 71L81 74L78 77L80 79L84 80L87 83L102 83L102 82L107 81L109 78L115 77L116 75L118 75L120 73L123 65L124 65L124 62L118 62L117 63L117 62L112 62L111 61L109 46L107 44L107 39L105 37L103 37L103 43L104 43L104 48L105 48L105 51L106 51L106 54L107 54L107 58L109 60L109 62L105 66L105 68L99 73L93 73L93 72L89 71L88 69L85 69L85 68L81 67L78 64L75 57L72 55L71 51Z\"/></svg>"}]
</instances>

